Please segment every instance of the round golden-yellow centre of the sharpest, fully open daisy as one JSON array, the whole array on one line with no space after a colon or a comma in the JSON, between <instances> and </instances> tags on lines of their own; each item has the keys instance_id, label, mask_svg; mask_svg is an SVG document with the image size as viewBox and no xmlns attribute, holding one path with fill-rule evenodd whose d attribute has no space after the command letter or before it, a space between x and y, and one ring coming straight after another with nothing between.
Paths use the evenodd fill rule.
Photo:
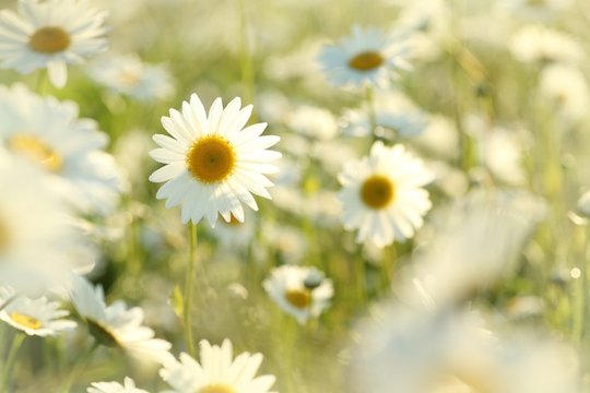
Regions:
<instances>
[{"instance_id":1,"label":"round golden-yellow centre of the sharpest, fully open daisy","mask_svg":"<svg viewBox=\"0 0 590 393\"><path fill-rule=\"evenodd\" d=\"M236 152L229 142L219 135L196 141L187 154L187 168L204 183L225 180L236 166Z\"/></svg>"}]
</instances>

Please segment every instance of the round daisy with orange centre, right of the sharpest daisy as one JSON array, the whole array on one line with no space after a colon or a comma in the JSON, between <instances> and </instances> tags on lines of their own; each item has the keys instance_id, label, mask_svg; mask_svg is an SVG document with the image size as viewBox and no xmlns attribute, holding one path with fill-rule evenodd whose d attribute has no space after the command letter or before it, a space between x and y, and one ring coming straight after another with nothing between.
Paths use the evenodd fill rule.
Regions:
<instances>
[{"instance_id":1,"label":"round daisy with orange centre, right of the sharpest daisy","mask_svg":"<svg viewBox=\"0 0 590 393\"><path fill-rule=\"evenodd\" d=\"M358 229L358 242L377 247L411 238L432 206L423 189L432 179L422 160L402 145L375 142L368 157L349 163L339 175L344 228Z\"/></svg>"}]
</instances>

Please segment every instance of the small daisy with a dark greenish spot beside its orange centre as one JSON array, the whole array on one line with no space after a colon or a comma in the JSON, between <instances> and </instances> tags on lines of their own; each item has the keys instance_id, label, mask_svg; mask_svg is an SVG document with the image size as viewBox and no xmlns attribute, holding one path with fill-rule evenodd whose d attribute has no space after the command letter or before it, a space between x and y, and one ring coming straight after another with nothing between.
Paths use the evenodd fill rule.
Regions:
<instances>
[{"instance_id":1,"label":"small daisy with a dark greenish spot beside its orange centre","mask_svg":"<svg viewBox=\"0 0 590 393\"><path fill-rule=\"evenodd\" d=\"M332 281L315 267L283 265L262 283L272 300L285 312L305 323L330 306L334 294Z\"/></svg>"}]
</instances>

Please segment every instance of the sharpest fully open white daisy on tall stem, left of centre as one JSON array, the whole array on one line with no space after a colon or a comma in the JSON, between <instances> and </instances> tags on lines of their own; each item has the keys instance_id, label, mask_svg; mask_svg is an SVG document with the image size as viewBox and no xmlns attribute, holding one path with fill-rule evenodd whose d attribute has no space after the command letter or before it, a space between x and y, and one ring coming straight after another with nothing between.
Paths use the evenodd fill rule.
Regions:
<instances>
[{"instance_id":1,"label":"sharpest fully open white daisy on tall stem, left of centre","mask_svg":"<svg viewBox=\"0 0 590 393\"><path fill-rule=\"evenodd\" d=\"M182 111L170 109L162 124L172 135L154 135L161 146L150 152L152 158L165 164L150 176L154 182L165 182L156 194L167 199L166 207L182 205L182 223L197 224L206 216L211 227L217 215L229 222L234 216L244 222L245 203L257 211L252 193L270 199L267 191L272 182L264 176L278 169L270 163L281 154L268 147L279 136L261 133L267 123L244 129L252 111L234 98L223 108L215 99L209 116L197 94L182 103Z\"/></svg>"}]
</instances>

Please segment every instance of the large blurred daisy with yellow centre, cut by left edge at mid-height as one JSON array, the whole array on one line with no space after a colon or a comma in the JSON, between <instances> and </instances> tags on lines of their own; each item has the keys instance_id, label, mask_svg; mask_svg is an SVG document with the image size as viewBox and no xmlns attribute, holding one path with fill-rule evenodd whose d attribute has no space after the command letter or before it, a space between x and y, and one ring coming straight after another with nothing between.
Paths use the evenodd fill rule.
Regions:
<instances>
[{"instance_id":1,"label":"large blurred daisy with yellow centre, cut by left edge at mid-height","mask_svg":"<svg viewBox=\"0 0 590 393\"><path fill-rule=\"evenodd\" d=\"M0 144L37 164L48 186L83 213L110 212L123 190L108 138L78 117L78 105L42 97L24 85L0 86Z\"/></svg>"}]
</instances>

